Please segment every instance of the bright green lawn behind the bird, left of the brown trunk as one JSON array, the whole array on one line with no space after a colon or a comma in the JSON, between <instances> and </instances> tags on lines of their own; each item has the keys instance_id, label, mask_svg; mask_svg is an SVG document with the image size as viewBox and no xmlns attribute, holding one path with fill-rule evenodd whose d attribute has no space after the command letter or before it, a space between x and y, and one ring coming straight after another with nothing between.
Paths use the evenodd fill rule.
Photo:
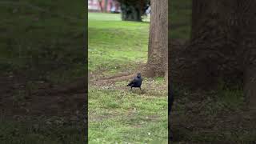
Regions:
<instances>
[{"instance_id":1,"label":"bright green lawn behind the bird, left of the brown trunk","mask_svg":"<svg viewBox=\"0 0 256 144\"><path fill-rule=\"evenodd\" d=\"M116 73L134 70L146 62L149 23L122 22L120 14L89 13L88 60L90 71Z\"/></svg>"}]
</instances>

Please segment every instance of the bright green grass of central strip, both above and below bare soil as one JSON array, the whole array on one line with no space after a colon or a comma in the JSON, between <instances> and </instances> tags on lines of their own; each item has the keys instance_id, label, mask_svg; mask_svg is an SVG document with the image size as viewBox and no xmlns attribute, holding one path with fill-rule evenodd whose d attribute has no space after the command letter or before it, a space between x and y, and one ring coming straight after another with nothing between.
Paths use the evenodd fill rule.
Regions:
<instances>
[{"instance_id":1,"label":"bright green grass of central strip, both above and below bare soil","mask_svg":"<svg viewBox=\"0 0 256 144\"><path fill-rule=\"evenodd\" d=\"M89 14L92 74L103 71L105 75L113 75L134 70L136 63L146 62L149 24L122 22L119 17L119 14ZM131 92L126 84L126 81L110 86L90 84L90 143L166 143L167 92L162 78L146 78L142 85L145 93Z\"/></svg>"}]
</instances>

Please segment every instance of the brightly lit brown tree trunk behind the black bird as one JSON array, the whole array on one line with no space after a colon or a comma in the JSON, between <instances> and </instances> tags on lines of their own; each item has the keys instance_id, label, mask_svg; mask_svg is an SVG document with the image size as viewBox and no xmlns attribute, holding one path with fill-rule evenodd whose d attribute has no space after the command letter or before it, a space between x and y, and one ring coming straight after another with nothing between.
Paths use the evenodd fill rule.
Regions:
<instances>
[{"instance_id":1,"label":"brightly lit brown tree trunk behind the black bird","mask_svg":"<svg viewBox=\"0 0 256 144\"><path fill-rule=\"evenodd\" d=\"M165 76L165 73L168 73L168 1L151 0L147 75Z\"/></svg>"}]
</instances>

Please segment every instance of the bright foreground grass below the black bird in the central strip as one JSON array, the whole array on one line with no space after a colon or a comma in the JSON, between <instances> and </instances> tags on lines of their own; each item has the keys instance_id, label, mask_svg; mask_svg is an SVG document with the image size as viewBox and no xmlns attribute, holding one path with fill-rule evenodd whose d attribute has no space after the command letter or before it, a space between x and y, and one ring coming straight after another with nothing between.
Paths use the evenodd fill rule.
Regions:
<instances>
[{"instance_id":1,"label":"bright foreground grass below the black bird in the central strip","mask_svg":"<svg viewBox=\"0 0 256 144\"><path fill-rule=\"evenodd\" d=\"M89 94L90 142L167 142L165 94L97 89Z\"/></svg>"}]
</instances>

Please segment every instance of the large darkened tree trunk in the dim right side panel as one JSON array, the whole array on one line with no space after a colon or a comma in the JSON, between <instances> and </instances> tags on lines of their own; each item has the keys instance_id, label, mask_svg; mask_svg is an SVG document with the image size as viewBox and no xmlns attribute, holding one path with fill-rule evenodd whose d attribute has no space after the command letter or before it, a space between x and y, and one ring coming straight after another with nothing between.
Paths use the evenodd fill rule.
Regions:
<instances>
[{"instance_id":1,"label":"large darkened tree trunk in the dim right side panel","mask_svg":"<svg viewBox=\"0 0 256 144\"><path fill-rule=\"evenodd\" d=\"M186 49L193 85L211 87L219 78L243 81L246 100L254 109L255 7L254 0L193 0L191 42Z\"/></svg>"}]
</instances>

